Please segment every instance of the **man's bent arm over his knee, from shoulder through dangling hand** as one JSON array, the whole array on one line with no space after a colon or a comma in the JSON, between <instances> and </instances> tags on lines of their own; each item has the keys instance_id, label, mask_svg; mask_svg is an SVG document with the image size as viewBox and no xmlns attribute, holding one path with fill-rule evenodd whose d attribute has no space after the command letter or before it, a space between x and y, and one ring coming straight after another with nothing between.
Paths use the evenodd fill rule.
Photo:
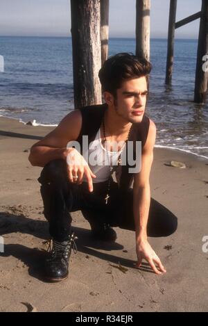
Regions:
<instances>
[{"instance_id":1,"label":"man's bent arm over his knee, from shoulder through dangling hand","mask_svg":"<svg viewBox=\"0 0 208 326\"><path fill-rule=\"evenodd\" d=\"M75 110L69 113L62 119L58 127L31 147L28 159L31 165L40 167L44 167L50 161L63 159L67 164L69 181L73 184L81 184L85 175L89 191L92 192L92 178L96 178L96 175L89 169L89 165L75 148L67 148L68 142L78 138L81 127L80 111Z\"/></svg>"}]
</instances>

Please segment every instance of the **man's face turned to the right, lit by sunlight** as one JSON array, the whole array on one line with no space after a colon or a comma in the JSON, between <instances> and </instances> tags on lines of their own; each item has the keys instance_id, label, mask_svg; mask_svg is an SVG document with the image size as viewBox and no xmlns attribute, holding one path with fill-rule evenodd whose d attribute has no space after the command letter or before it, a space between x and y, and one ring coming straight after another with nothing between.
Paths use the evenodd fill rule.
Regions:
<instances>
[{"instance_id":1,"label":"man's face turned to the right, lit by sunlight","mask_svg":"<svg viewBox=\"0 0 208 326\"><path fill-rule=\"evenodd\" d=\"M146 77L123 81L121 88L116 91L114 108L118 115L128 122L141 122L148 93Z\"/></svg>"}]
</instances>

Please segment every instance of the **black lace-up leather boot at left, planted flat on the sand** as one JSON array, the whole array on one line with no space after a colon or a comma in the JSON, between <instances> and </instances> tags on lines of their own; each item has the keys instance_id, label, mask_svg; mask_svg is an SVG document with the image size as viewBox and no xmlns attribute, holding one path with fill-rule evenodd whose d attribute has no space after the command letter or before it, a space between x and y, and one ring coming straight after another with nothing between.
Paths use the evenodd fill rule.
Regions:
<instances>
[{"instance_id":1,"label":"black lace-up leather boot at left, planted flat on the sand","mask_svg":"<svg viewBox=\"0 0 208 326\"><path fill-rule=\"evenodd\" d=\"M71 256L71 249L76 253L77 237L72 232L69 240L58 242L53 240L53 247L50 252L49 259L45 263L45 278L49 282L60 282L67 279L69 274L69 258Z\"/></svg>"}]
</instances>

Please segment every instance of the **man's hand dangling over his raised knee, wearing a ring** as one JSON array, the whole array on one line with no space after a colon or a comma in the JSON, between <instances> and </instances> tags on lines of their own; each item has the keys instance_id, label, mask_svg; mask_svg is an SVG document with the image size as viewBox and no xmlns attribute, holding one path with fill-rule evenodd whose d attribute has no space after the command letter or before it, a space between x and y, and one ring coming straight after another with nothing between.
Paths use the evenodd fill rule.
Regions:
<instances>
[{"instance_id":1,"label":"man's hand dangling over his raised knee, wearing a ring","mask_svg":"<svg viewBox=\"0 0 208 326\"><path fill-rule=\"evenodd\" d=\"M69 181L73 184L82 184L85 175L89 191L92 193L92 178L96 178L96 175L90 170L85 158L83 158L83 156L73 147L67 149L65 156L67 156L67 172Z\"/></svg>"}]
</instances>

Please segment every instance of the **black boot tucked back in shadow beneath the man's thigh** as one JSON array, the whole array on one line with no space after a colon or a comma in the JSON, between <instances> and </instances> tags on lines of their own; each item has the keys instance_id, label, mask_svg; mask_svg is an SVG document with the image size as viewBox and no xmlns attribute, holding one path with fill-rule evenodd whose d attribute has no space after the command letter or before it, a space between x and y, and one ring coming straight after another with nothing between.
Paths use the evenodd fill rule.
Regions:
<instances>
[{"instance_id":1,"label":"black boot tucked back in shadow beneath the man's thigh","mask_svg":"<svg viewBox=\"0 0 208 326\"><path fill-rule=\"evenodd\" d=\"M92 238L101 241L116 241L116 231L107 223L89 222L92 229Z\"/></svg>"}]
</instances>

